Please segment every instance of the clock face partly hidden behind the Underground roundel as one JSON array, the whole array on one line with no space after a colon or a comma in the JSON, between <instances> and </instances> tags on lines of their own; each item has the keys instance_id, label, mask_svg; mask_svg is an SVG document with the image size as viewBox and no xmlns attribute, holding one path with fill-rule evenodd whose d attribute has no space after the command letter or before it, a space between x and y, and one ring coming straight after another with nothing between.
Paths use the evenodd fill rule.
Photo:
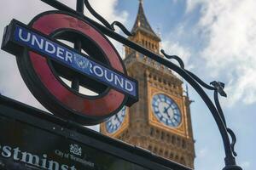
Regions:
<instances>
[{"instance_id":1,"label":"clock face partly hidden behind the Underground roundel","mask_svg":"<svg viewBox=\"0 0 256 170\"><path fill-rule=\"evenodd\" d=\"M124 106L121 111L108 119L108 121L105 123L108 133L115 133L119 127L121 127L121 124L125 119L125 111L126 107Z\"/></svg>"}]
</instances>

